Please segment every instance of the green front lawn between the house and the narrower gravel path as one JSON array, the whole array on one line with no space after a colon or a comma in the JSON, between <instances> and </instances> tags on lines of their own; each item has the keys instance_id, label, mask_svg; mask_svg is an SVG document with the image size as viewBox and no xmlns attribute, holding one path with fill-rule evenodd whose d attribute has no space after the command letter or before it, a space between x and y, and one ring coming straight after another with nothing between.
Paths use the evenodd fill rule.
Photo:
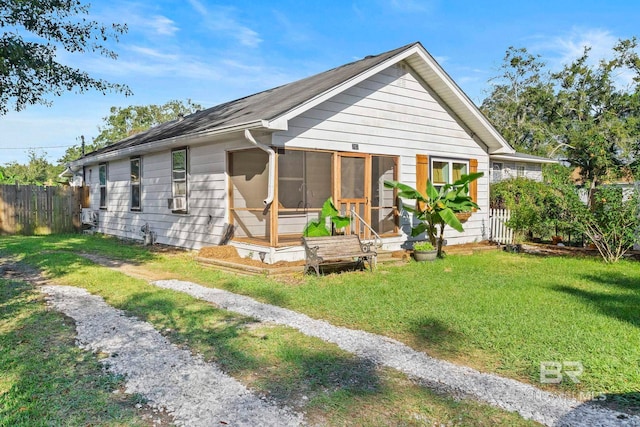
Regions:
<instances>
[{"instance_id":1,"label":"green front lawn between the house and the narrower gravel path","mask_svg":"<svg viewBox=\"0 0 640 427\"><path fill-rule=\"evenodd\" d=\"M307 276L288 284L201 269L192 254L152 254L101 237L16 237L0 244L58 276L69 274L68 266L48 262L43 249L97 251L388 335L430 355L571 397L607 394L608 402L628 410L640 401L637 262L607 265L598 259L489 252L382 267L373 274ZM561 384L541 384L541 362L579 362L580 382L564 375Z\"/></svg>"}]
</instances>

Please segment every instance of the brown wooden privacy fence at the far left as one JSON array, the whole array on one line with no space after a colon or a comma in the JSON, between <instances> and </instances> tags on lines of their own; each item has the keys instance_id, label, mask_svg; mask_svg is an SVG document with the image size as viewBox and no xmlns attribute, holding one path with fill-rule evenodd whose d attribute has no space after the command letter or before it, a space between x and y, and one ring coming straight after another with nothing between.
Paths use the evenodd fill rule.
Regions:
<instances>
[{"instance_id":1,"label":"brown wooden privacy fence at the far left","mask_svg":"<svg viewBox=\"0 0 640 427\"><path fill-rule=\"evenodd\" d=\"M0 185L1 234L57 234L81 228L86 187Z\"/></svg>"}]
</instances>

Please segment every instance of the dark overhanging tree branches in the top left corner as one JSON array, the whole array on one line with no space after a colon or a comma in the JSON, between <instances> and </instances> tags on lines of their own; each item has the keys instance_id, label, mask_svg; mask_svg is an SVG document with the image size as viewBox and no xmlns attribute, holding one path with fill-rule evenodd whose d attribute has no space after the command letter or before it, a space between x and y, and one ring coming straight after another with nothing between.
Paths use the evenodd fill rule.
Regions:
<instances>
[{"instance_id":1,"label":"dark overhanging tree branches in the top left corner","mask_svg":"<svg viewBox=\"0 0 640 427\"><path fill-rule=\"evenodd\" d=\"M95 89L131 94L125 85L95 79L57 61L57 49L96 52L115 59L106 47L126 25L88 20L89 5L79 0L3 0L0 3L0 115L28 105L51 105L47 96Z\"/></svg>"}]
</instances>

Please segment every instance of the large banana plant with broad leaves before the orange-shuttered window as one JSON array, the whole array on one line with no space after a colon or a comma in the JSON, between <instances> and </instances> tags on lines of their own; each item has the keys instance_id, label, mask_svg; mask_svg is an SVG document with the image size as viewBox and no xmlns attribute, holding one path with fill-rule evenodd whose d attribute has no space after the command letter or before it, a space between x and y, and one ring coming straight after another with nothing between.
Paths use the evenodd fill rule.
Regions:
<instances>
[{"instance_id":1,"label":"large banana plant with broad leaves before the orange-shuttered window","mask_svg":"<svg viewBox=\"0 0 640 427\"><path fill-rule=\"evenodd\" d=\"M415 206L401 202L405 210L420 220L420 223L411 229L411 236L426 233L431 244L438 250L438 257L442 258L444 228L448 225L456 231L464 231L456 214L479 209L469 195L469 184L483 175L483 172L462 175L453 184L443 185L439 191L427 180L426 195L398 181L385 181L384 185L398 190L397 196L400 199L415 200Z\"/></svg>"}]
</instances>

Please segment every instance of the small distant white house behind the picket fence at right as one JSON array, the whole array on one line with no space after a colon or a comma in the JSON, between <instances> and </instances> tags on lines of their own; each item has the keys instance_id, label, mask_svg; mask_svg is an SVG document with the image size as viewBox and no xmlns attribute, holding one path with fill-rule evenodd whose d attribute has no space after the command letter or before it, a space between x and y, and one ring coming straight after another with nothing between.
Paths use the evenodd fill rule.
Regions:
<instances>
[{"instance_id":1,"label":"small distant white house behind the picket fence at right","mask_svg":"<svg viewBox=\"0 0 640 427\"><path fill-rule=\"evenodd\" d=\"M511 178L528 178L542 181L542 165L558 163L546 157L524 153L490 155L489 176L492 183Z\"/></svg>"}]
</instances>

